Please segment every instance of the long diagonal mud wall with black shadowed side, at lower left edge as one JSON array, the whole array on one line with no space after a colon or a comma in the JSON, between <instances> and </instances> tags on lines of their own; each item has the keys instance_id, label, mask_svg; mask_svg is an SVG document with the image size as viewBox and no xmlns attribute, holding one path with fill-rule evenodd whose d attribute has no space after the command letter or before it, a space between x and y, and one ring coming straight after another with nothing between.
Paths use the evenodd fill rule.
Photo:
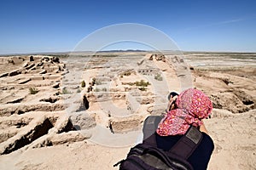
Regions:
<instances>
[{"instance_id":1,"label":"long diagonal mud wall with black shadowed side, at lower left edge","mask_svg":"<svg viewBox=\"0 0 256 170\"><path fill-rule=\"evenodd\" d=\"M0 154L9 154L12 151L19 150L27 144L31 144L34 140L47 134L52 127L54 126L52 122L49 121L49 118L43 117L26 131L22 131L16 134L13 138L4 141L0 145Z\"/></svg>"}]
</instances>

